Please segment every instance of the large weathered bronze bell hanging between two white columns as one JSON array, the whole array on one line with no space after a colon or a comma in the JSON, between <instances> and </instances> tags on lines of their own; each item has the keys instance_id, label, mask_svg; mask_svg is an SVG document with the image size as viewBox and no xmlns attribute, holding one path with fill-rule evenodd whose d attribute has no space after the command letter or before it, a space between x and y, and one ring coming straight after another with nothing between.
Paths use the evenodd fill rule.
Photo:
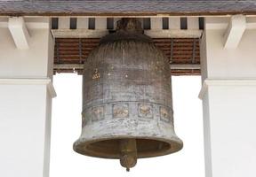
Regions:
<instances>
[{"instance_id":1,"label":"large weathered bronze bell hanging between two white columns","mask_svg":"<svg viewBox=\"0 0 256 177\"><path fill-rule=\"evenodd\" d=\"M137 158L182 149L175 135L168 58L143 35L136 19L121 19L84 63L83 129L74 150L120 159L127 171Z\"/></svg>"}]
</instances>

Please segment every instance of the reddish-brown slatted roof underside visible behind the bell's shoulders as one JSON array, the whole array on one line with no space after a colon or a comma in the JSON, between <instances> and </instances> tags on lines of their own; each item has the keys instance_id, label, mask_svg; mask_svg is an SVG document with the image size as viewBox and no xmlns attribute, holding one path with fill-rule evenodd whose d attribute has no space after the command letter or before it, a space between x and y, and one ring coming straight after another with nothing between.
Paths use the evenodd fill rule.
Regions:
<instances>
[{"instance_id":1,"label":"reddish-brown slatted roof underside visible behind the bell's shoulders","mask_svg":"<svg viewBox=\"0 0 256 177\"><path fill-rule=\"evenodd\" d=\"M153 40L169 58L172 75L200 74L199 68L186 68L186 65L200 65L198 38L157 38ZM56 38L54 72L81 74L84 61L88 54L99 45L99 42L99 38ZM181 67L173 68L172 65Z\"/></svg>"}]
</instances>

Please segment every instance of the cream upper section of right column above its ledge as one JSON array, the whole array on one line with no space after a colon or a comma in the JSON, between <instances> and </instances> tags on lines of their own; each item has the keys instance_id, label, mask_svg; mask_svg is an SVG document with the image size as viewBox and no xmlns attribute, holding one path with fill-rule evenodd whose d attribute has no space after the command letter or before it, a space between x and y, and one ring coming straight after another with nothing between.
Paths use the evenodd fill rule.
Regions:
<instances>
[{"instance_id":1,"label":"cream upper section of right column above its ledge","mask_svg":"<svg viewBox=\"0 0 256 177\"><path fill-rule=\"evenodd\" d=\"M256 78L256 30L247 29L236 50L225 50L225 29L206 30L207 65L205 71L208 79L213 78Z\"/></svg>"}]
</instances>

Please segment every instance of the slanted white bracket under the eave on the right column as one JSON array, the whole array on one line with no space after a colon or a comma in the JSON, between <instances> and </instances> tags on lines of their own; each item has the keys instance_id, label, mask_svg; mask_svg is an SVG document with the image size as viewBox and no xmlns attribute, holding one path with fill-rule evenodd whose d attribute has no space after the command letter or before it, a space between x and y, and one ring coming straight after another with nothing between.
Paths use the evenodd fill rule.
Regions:
<instances>
[{"instance_id":1,"label":"slanted white bracket under the eave on the right column","mask_svg":"<svg viewBox=\"0 0 256 177\"><path fill-rule=\"evenodd\" d=\"M227 31L224 35L224 48L236 49L246 29L246 17L244 15L231 16Z\"/></svg>"}]
</instances>

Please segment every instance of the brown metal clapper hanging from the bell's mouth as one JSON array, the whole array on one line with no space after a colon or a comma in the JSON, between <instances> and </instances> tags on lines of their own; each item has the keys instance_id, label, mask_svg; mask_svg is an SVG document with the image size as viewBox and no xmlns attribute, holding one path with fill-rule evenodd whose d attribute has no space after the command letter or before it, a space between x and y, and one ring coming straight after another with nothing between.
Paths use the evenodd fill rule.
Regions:
<instances>
[{"instance_id":1,"label":"brown metal clapper hanging from the bell's mouth","mask_svg":"<svg viewBox=\"0 0 256 177\"><path fill-rule=\"evenodd\" d=\"M135 139L120 140L120 164L129 172L137 163L137 146Z\"/></svg>"}]
</instances>

